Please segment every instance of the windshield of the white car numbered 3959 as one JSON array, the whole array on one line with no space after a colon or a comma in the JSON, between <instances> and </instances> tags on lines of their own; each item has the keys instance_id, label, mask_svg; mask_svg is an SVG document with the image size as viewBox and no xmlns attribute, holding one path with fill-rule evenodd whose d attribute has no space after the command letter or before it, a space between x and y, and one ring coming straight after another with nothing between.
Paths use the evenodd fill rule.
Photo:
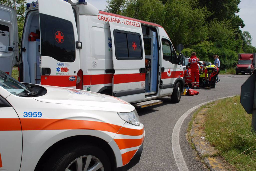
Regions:
<instances>
[{"instance_id":1,"label":"windshield of the white car numbered 3959","mask_svg":"<svg viewBox=\"0 0 256 171\"><path fill-rule=\"evenodd\" d=\"M16 96L24 96L31 93L27 86L3 71L0 71L0 86Z\"/></svg>"}]
</instances>

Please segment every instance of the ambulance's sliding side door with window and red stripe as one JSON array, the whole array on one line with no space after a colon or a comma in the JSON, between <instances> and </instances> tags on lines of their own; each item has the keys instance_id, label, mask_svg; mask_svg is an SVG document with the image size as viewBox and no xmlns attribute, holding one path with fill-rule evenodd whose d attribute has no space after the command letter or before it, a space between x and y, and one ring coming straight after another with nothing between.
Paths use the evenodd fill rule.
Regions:
<instances>
[{"instance_id":1,"label":"ambulance's sliding side door with window and red stripe","mask_svg":"<svg viewBox=\"0 0 256 171\"><path fill-rule=\"evenodd\" d=\"M145 54L140 22L109 16L113 49L113 96L145 99Z\"/></svg>"}]
</instances>

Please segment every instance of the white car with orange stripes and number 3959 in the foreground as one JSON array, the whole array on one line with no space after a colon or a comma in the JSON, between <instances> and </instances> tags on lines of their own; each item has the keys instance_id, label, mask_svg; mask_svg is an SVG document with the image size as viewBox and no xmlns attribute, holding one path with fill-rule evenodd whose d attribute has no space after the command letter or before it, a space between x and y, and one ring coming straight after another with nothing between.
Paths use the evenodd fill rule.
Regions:
<instances>
[{"instance_id":1,"label":"white car with orange stripes and number 3959 in the foreground","mask_svg":"<svg viewBox=\"0 0 256 171\"><path fill-rule=\"evenodd\" d=\"M128 170L140 160L144 134L126 101L22 84L0 70L0 170Z\"/></svg>"}]
</instances>

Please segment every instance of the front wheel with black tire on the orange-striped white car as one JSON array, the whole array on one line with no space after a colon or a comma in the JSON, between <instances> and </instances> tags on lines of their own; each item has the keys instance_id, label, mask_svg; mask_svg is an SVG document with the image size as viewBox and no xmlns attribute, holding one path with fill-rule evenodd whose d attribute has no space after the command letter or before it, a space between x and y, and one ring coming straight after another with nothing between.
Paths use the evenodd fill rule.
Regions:
<instances>
[{"instance_id":1,"label":"front wheel with black tire on the orange-striped white car","mask_svg":"<svg viewBox=\"0 0 256 171\"><path fill-rule=\"evenodd\" d=\"M99 167L99 171L103 170L102 167L104 171L111 171L108 158L106 153L97 146L86 143L76 143L64 146L55 151L54 154L49 157L48 162L44 164L45 168L42 170L64 171L69 169L70 171L75 171L78 162L82 161L80 164L81 167L86 167L87 163L91 163L90 165L88 164L88 169L96 164ZM87 162L87 160L90 160L90 162Z\"/></svg>"}]
</instances>

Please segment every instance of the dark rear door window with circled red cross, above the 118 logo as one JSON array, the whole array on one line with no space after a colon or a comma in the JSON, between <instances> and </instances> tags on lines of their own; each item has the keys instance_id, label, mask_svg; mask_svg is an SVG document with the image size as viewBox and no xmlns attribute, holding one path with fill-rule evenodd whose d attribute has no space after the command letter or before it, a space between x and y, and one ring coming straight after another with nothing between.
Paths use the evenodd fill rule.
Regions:
<instances>
[{"instance_id":1,"label":"dark rear door window with circled red cross, above the 118 logo","mask_svg":"<svg viewBox=\"0 0 256 171\"><path fill-rule=\"evenodd\" d=\"M40 13L42 56L60 62L74 62L76 46L70 21Z\"/></svg>"}]
</instances>

